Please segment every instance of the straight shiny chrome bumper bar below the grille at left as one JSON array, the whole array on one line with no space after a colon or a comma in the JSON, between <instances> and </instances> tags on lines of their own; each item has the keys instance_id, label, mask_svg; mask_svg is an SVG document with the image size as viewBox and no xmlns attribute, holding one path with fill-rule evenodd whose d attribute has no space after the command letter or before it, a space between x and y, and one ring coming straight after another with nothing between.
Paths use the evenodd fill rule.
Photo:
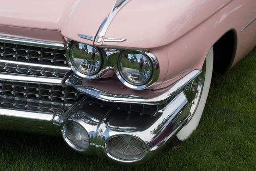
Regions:
<instances>
[{"instance_id":1,"label":"straight shiny chrome bumper bar below the grille at left","mask_svg":"<svg viewBox=\"0 0 256 171\"><path fill-rule=\"evenodd\" d=\"M25 118L25 119L33 119L33 120L41 120L41 121L49 121L49 122L53 120L53 114L29 112L29 111L21 111L21 110L13 110L13 109L5 109L5 108L0 108L0 116L9 116L9 117L15 117L15 118Z\"/></svg>"}]
</instances>

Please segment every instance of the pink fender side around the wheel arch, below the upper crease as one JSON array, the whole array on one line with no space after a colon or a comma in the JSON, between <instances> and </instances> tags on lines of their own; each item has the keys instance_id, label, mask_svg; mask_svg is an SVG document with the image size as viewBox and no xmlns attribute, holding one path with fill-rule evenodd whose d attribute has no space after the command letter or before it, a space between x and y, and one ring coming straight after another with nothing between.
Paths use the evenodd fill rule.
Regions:
<instances>
[{"instance_id":1,"label":"pink fender side around the wheel arch, below the upper crease","mask_svg":"<svg viewBox=\"0 0 256 171\"><path fill-rule=\"evenodd\" d=\"M236 58L233 66L249 53L256 45L256 32L253 32L256 30L256 23L252 23L243 32L241 30L256 16L256 3L251 4L250 1L245 0L243 3L239 0L232 1L190 32L166 45L169 70L165 81L157 88L176 82L195 68L201 69L209 49L231 29L237 34Z\"/></svg>"}]
</instances>

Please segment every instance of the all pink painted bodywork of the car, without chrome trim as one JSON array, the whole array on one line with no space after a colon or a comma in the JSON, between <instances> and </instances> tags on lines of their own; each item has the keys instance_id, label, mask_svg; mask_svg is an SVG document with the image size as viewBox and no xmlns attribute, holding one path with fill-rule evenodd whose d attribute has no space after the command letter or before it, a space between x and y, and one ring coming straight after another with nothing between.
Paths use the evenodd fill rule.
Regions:
<instances>
[{"instance_id":1,"label":"all pink painted bodywork of the car, without chrome trim","mask_svg":"<svg viewBox=\"0 0 256 171\"><path fill-rule=\"evenodd\" d=\"M59 42L61 33L66 40L93 44L78 33L96 36L114 2L4 1L0 6L0 34ZM118 12L105 35L126 41L104 42L103 46L146 49L155 54L160 77L151 88L159 89L201 69L211 46L231 29L237 33L236 64L256 44L256 22L241 32L255 17L254 0L131 0Z\"/></svg>"}]
</instances>

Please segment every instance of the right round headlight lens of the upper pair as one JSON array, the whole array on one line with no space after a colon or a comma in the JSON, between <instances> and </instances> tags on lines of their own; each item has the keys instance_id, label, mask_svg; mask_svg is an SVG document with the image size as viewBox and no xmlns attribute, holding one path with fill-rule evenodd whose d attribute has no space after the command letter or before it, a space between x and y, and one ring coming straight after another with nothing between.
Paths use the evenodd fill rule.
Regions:
<instances>
[{"instance_id":1,"label":"right round headlight lens of the upper pair","mask_svg":"<svg viewBox=\"0 0 256 171\"><path fill-rule=\"evenodd\" d=\"M126 50L118 58L122 78L132 85L144 85L152 76L152 64L146 54Z\"/></svg>"}]
</instances>

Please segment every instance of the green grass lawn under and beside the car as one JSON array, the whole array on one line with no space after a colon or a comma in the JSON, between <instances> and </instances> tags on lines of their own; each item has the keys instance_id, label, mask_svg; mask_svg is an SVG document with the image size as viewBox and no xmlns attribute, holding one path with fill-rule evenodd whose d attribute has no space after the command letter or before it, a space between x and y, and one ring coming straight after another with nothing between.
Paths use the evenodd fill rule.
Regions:
<instances>
[{"instance_id":1,"label":"green grass lawn under and beside the car","mask_svg":"<svg viewBox=\"0 0 256 171\"><path fill-rule=\"evenodd\" d=\"M256 169L256 48L225 75L215 74L197 130L139 166L80 155L59 137L0 132L0 171L186 171Z\"/></svg>"}]
</instances>

